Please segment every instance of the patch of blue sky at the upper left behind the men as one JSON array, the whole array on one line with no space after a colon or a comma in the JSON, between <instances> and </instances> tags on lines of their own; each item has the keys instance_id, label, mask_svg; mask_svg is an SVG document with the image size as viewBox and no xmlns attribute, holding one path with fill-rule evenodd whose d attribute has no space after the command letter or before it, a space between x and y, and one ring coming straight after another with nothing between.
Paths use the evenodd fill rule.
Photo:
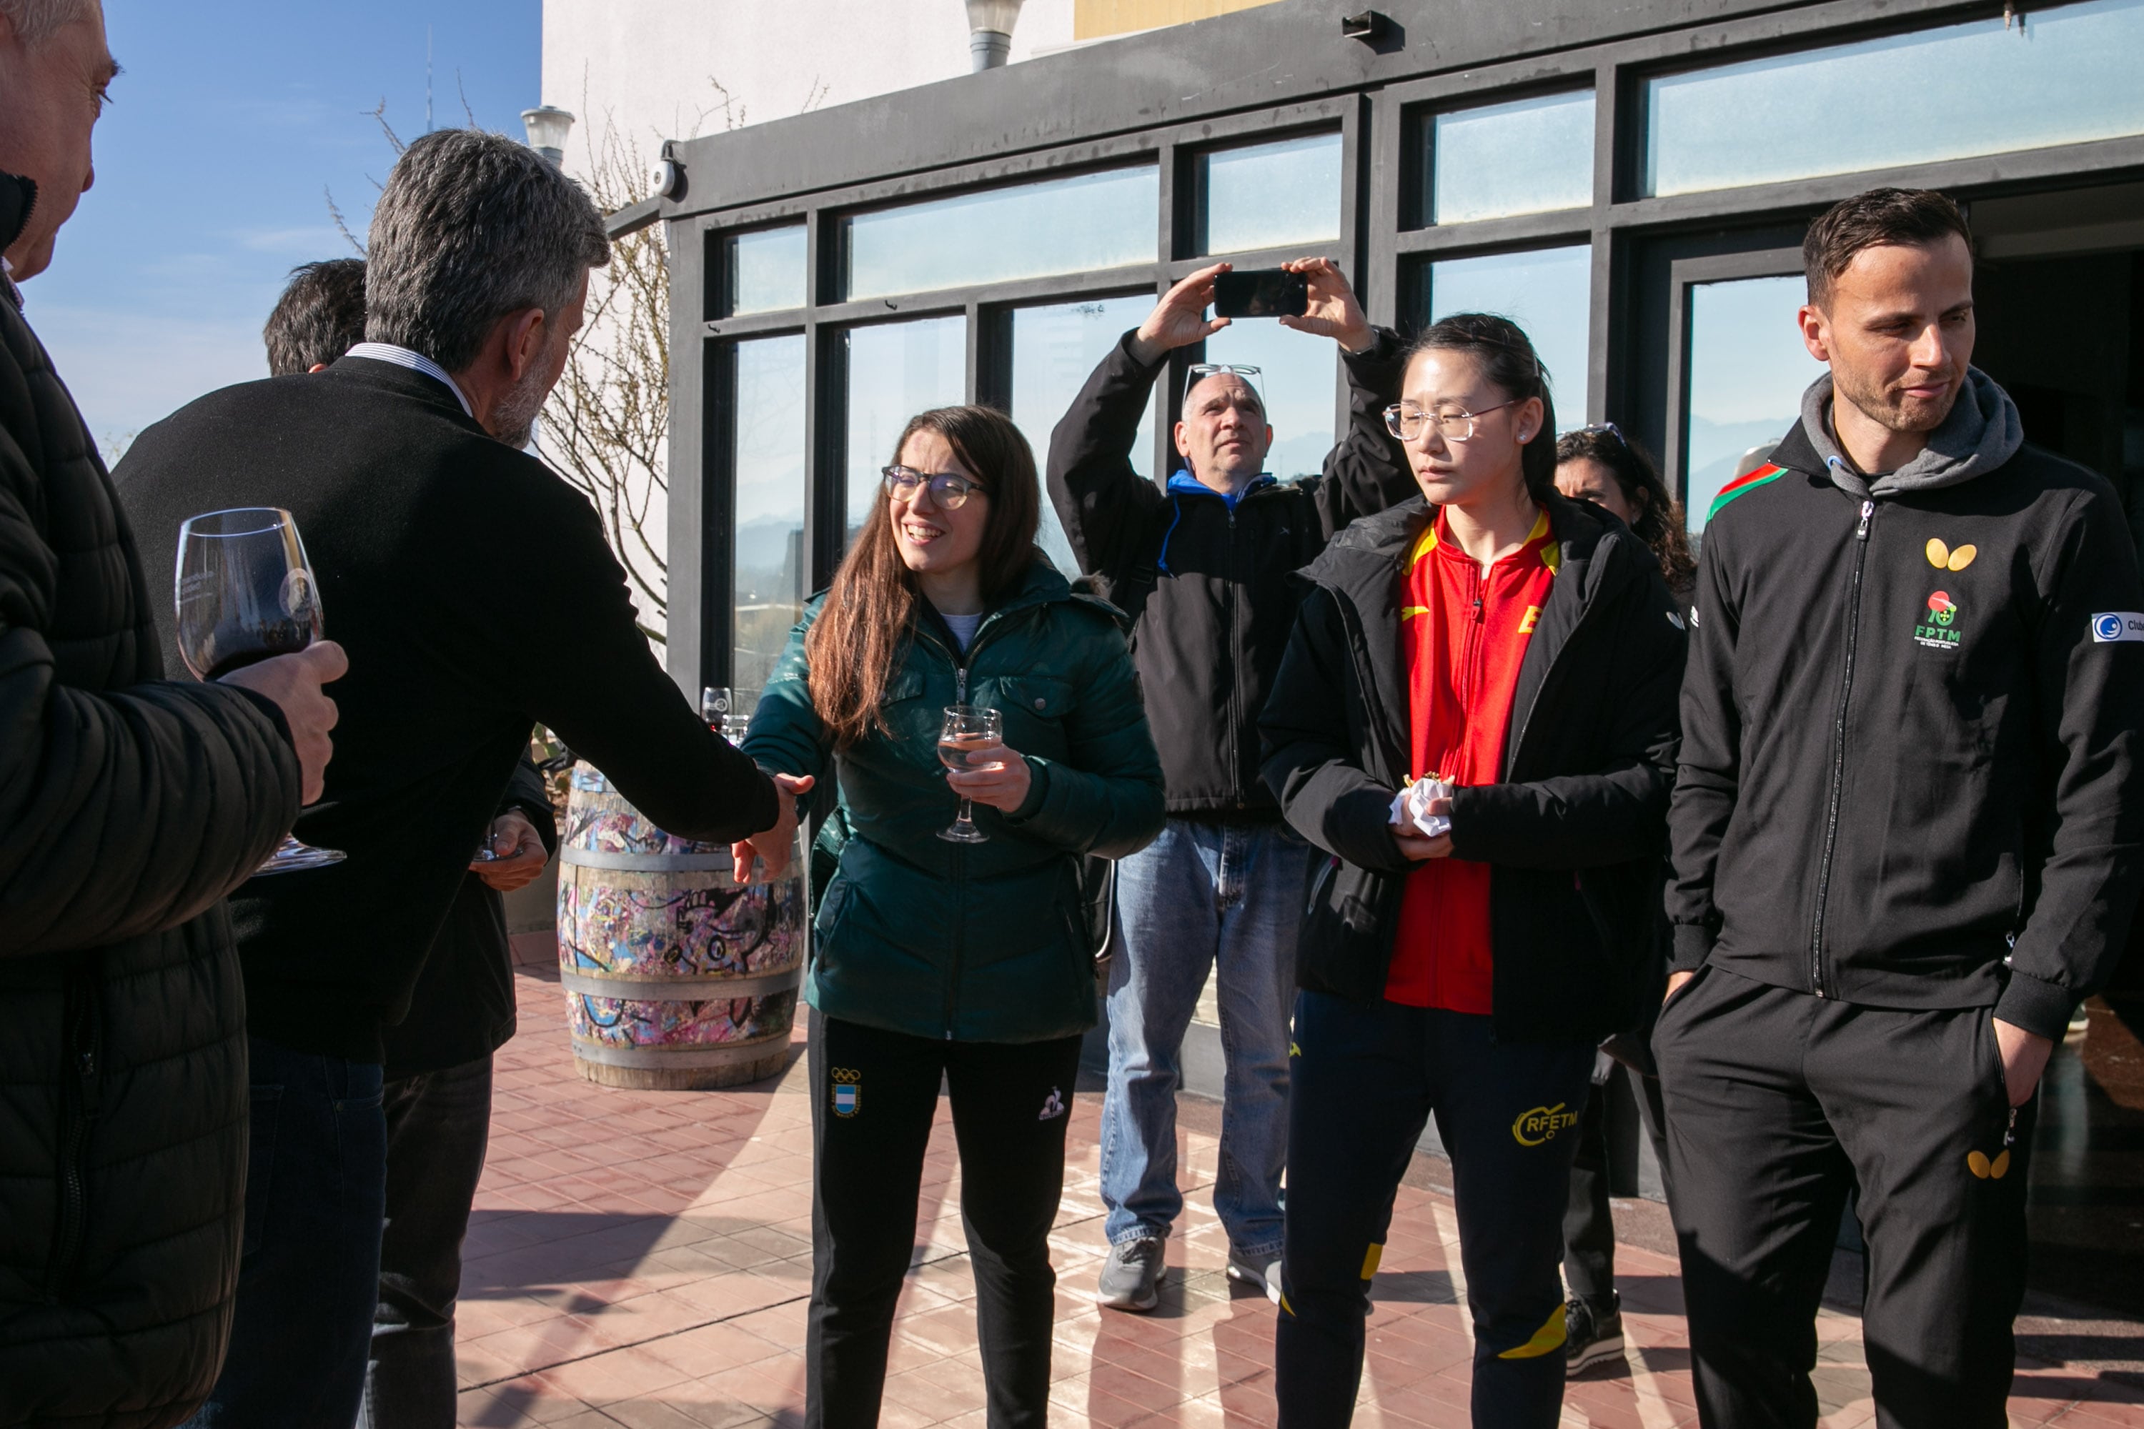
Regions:
<instances>
[{"instance_id":1,"label":"patch of blue sky at the upper left behind the men","mask_svg":"<svg viewBox=\"0 0 2144 1429\"><path fill-rule=\"evenodd\" d=\"M126 73L96 124L96 186L24 285L28 317L111 450L187 401L268 375L259 330L294 264L352 249L394 152L433 120L521 135L540 0L105 0Z\"/></svg>"}]
</instances>

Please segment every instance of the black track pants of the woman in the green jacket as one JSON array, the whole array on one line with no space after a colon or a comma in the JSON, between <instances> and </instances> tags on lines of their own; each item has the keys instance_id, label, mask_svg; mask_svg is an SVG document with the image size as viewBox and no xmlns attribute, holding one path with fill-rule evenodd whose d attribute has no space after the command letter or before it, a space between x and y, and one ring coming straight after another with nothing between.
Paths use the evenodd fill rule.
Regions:
<instances>
[{"instance_id":1,"label":"black track pants of the woman in the green jacket","mask_svg":"<svg viewBox=\"0 0 2144 1429\"><path fill-rule=\"evenodd\" d=\"M1078 1043L933 1041L813 1011L806 1425L879 1423L941 1075L961 1146L991 1429L1044 1423L1057 1288L1048 1234L1063 1193Z\"/></svg>"}]
</instances>

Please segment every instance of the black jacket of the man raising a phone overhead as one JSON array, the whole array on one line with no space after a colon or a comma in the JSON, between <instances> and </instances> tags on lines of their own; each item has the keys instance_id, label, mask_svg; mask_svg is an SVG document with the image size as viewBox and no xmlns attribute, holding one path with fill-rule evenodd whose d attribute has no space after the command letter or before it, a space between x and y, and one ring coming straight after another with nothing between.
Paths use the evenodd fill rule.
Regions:
<instances>
[{"instance_id":1,"label":"black jacket of the man raising a phone overhead","mask_svg":"<svg viewBox=\"0 0 2144 1429\"><path fill-rule=\"evenodd\" d=\"M1415 495L1385 431L1404 345L1379 328L1344 354L1349 428L1325 473L1261 478L1229 506L1188 473L1162 491L1132 469L1147 394L1168 360L1143 364L1123 334L1051 433L1048 488L1096 593L1132 615L1132 664L1162 754L1171 818L1278 818L1259 778L1259 709L1289 647L1301 570L1355 516Z\"/></svg>"}]
</instances>

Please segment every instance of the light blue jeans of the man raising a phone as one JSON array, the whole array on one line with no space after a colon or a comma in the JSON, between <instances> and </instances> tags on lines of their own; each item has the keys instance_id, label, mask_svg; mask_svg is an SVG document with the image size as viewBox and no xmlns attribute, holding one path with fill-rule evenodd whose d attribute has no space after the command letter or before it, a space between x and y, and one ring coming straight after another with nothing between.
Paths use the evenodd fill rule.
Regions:
<instances>
[{"instance_id":1,"label":"light blue jeans of the man raising a phone","mask_svg":"<svg viewBox=\"0 0 2144 1429\"><path fill-rule=\"evenodd\" d=\"M1280 1258L1289 1150L1289 1009L1310 846L1282 825L1171 818L1117 863L1117 958L1108 971L1102 1204L1108 1240L1166 1236L1177 1189L1183 1031L1218 977L1229 1063L1214 1210L1237 1258Z\"/></svg>"}]
</instances>

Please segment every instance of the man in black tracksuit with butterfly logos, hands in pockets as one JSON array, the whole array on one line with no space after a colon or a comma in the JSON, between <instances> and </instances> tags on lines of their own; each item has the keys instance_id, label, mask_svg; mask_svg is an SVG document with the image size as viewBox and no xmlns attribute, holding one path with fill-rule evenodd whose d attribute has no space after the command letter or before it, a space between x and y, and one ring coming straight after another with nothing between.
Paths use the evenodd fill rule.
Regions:
<instances>
[{"instance_id":1,"label":"man in black tracksuit with butterfly logos, hands in pockets","mask_svg":"<svg viewBox=\"0 0 2144 1429\"><path fill-rule=\"evenodd\" d=\"M1816 1423L1850 1185L1878 1423L2005 1423L2035 1088L2135 904L2144 589L1968 366L1968 242L1934 193L1812 225L1831 375L1704 531L1655 1048L1707 1425Z\"/></svg>"}]
</instances>

